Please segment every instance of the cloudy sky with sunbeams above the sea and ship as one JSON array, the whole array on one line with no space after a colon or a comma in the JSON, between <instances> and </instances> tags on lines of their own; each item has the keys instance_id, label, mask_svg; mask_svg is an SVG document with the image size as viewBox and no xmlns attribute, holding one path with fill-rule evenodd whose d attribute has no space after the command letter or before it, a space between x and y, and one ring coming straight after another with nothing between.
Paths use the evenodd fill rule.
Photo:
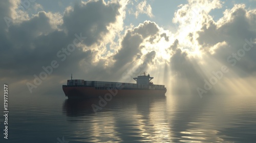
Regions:
<instances>
[{"instance_id":1,"label":"cloudy sky with sunbeams above the sea and ship","mask_svg":"<svg viewBox=\"0 0 256 143\"><path fill-rule=\"evenodd\" d=\"M255 6L255 0L1 1L0 80L15 95L64 95L71 74L135 83L147 71L167 94L250 96Z\"/></svg>"}]
</instances>

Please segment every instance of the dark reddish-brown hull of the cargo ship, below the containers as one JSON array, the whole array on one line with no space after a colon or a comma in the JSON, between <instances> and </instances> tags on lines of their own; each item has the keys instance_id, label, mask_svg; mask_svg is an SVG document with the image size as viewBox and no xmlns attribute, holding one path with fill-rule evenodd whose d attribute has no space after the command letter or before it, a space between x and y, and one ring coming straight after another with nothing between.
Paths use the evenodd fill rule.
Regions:
<instances>
[{"instance_id":1,"label":"dark reddish-brown hull of the cargo ship, below the containers","mask_svg":"<svg viewBox=\"0 0 256 143\"><path fill-rule=\"evenodd\" d=\"M98 98L99 96L131 97L131 96L165 96L166 89L95 89L86 86L63 86L63 91L68 98Z\"/></svg>"}]
</instances>

